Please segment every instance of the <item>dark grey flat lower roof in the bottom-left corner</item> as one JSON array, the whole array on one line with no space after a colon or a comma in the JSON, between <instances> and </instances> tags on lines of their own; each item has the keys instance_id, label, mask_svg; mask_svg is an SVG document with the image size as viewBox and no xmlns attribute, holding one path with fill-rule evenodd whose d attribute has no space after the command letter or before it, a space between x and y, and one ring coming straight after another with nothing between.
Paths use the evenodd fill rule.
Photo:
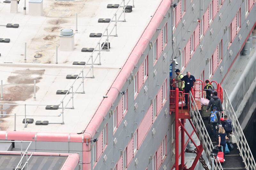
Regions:
<instances>
[{"instance_id":1,"label":"dark grey flat lower roof in the bottom-left corner","mask_svg":"<svg viewBox=\"0 0 256 170\"><path fill-rule=\"evenodd\" d=\"M28 155L29 156L29 155ZM25 155L26 158L26 155ZM58 170L60 169L64 162L66 161L67 156L37 156L32 155L28 161L28 169L31 170ZM20 155L0 155L0 170L12 170L13 167L16 167L20 161ZM26 162L26 159L23 159L23 164ZM27 169L27 165L24 168Z\"/></svg>"}]
</instances>

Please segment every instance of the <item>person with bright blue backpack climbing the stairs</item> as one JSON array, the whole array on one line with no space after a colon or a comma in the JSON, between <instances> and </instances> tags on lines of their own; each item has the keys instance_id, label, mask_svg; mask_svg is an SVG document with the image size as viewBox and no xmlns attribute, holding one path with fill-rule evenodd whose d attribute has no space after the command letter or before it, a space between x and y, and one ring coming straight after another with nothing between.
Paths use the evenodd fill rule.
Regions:
<instances>
[{"instance_id":1,"label":"person with bright blue backpack climbing the stairs","mask_svg":"<svg viewBox=\"0 0 256 170\"><path fill-rule=\"evenodd\" d=\"M216 131L219 129L218 124L220 124L220 114L217 111L217 107L212 107L211 115L209 115L208 124L212 124L213 137L216 138Z\"/></svg>"}]
</instances>

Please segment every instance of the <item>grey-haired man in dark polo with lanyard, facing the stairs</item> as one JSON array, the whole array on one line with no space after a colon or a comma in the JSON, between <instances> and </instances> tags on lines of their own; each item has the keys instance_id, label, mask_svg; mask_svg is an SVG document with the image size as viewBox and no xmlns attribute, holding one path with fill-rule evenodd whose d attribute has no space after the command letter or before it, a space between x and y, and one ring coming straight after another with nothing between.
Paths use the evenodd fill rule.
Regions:
<instances>
[{"instance_id":1,"label":"grey-haired man in dark polo with lanyard, facing the stairs","mask_svg":"<svg viewBox=\"0 0 256 170\"><path fill-rule=\"evenodd\" d=\"M195 77L190 74L190 71L187 71L187 75L181 78L180 80L176 81L176 83L179 83L181 81L185 82L184 91L185 93L189 94L191 87L195 87L194 85L194 82L196 82ZM185 94L186 106L188 106L188 94Z\"/></svg>"}]
</instances>

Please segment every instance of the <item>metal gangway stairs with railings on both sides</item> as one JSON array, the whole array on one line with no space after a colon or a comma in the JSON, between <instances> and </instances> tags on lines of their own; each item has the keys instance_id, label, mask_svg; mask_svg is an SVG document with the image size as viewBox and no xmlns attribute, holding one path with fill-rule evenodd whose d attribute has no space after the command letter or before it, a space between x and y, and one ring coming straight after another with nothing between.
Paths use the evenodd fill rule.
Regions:
<instances>
[{"instance_id":1,"label":"metal gangway stairs with railings on both sides","mask_svg":"<svg viewBox=\"0 0 256 170\"><path fill-rule=\"evenodd\" d=\"M192 92L193 93L193 92ZM201 114L197 108L196 100L192 93L189 93L189 113L192 119L192 122L195 126L195 129L198 133L199 140L203 145L205 154L211 164L211 152L215 145L218 145L217 141L211 139L209 136L205 125L207 125L207 120L204 120L201 117ZM252 156L252 152L249 148L249 145L244 137L243 130L237 120L234 109L228 99L227 92L224 94L224 113L228 115L228 118L231 119L233 123L233 134L236 136L236 144L234 145L234 150L230 151L229 154L226 154L225 162L223 164L219 163L219 160L214 161L212 169L247 169L255 170L256 164Z\"/></svg>"}]
</instances>

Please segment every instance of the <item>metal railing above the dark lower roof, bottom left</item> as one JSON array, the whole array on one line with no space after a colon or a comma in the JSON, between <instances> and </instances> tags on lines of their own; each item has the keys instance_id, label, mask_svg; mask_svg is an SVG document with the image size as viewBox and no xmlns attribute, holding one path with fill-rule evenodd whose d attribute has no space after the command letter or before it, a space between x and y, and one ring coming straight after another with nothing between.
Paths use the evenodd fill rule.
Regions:
<instances>
[{"instance_id":1,"label":"metal railing above the dark lower roof, bottom left","mask_svg":"<svg viewBox=\"0 0 256 170\"><path fill-rule=\"evenodd\" d=\"M0 141L0 142L10 142L10 143L13 143L13 142L20 142L20 143L21 143L21 148L20 148L20 161L19 161L18 165L15 167L15 170L20 169L20 166L23 164L23 163L22 163L22 159L24 158L25 155L26 155L26 162L25 162L25 164L22 166L21 170L23 170L26 165L27 165L27 168L26 168L26 169L29 169L28 161L29 161L29 159L31 158L31 156L32 156L33 153L34 153L34 152L28 152L28 148L29 148L29 146L30 146L31 143L32 143L31 141ZM25 150L25 152L22 151L22 143L29 143L27 149ZM6 151L0 151L0 153L6 153ZM28 154L29 154L29 157L28 157Z\"/></svg>"}]
</instances>

